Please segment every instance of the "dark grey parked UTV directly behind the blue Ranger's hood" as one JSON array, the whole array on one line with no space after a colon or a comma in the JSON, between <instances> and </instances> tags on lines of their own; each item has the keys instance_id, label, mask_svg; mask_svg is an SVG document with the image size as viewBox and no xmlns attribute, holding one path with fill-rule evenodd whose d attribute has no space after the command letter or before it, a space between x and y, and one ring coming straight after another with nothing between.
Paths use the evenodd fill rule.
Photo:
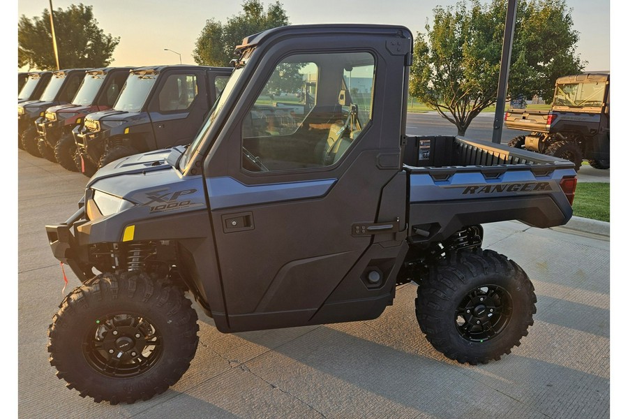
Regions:
<instances>
[{"instance_id":1,"label":"dark grey parked UTV directly behind the blue Ranger's hood","mask_svg":"<svg viewBox=\"0 0 628 419\"><path fill-rule=\"evenodd\" d=\"M192 142L233 69L149 66L128 75L113 108L85 117L74 128L81 171L125 156Z\"/></svg>"}]
</instances>

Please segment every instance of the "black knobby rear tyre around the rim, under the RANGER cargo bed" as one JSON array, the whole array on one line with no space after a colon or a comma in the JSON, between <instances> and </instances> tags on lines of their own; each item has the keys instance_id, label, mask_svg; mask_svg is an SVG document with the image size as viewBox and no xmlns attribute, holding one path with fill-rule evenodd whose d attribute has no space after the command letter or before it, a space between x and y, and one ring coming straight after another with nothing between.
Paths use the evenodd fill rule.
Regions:
<instances>
[{"instance_id":1,"label":"black knobby rear tyre around the rim, under the RANGER cargo bed","mask_svg":"<svg viewBox=\"0 0 628 419\"><path fill-rule=\"evenodd\" d=\"M474 288L499 282L507 288L514 310L507 328L484 343L465 340L456 328L455 313L464 295ZM458 251L439 261L419 284L415 311L421 332L447 358L477 365L499 360L521 344L536 313L534 286L512 260L491 250Z\"/></svg>"}]
</instances>

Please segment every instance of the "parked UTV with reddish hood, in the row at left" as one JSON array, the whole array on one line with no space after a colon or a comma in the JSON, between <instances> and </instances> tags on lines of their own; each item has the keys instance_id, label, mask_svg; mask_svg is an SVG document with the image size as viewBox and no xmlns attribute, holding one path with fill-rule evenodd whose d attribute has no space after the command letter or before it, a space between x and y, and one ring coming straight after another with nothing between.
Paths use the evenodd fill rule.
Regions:
<instances>
[{"instance_id":1,"label":"parked UTV with reddish hood, in the row at left","mask_svg":"<svg viewBox=\"0 0 628 419\"><path fill-rule=\"evenodd\" d=\"M85 115L111 109L132 69L107 67L87 71L71 103L48 108L36 121L40 154L63 168L80 170L73 128L80 126Z\"/></svg>"}]
</instances>

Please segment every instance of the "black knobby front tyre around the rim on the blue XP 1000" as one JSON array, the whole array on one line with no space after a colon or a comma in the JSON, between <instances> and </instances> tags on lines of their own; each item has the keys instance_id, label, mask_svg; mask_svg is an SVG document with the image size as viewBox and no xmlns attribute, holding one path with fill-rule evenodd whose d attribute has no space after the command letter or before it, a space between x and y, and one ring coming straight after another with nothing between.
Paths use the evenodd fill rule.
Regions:
<instances>
[{"instance_id":1,"label":"black knobby front tyre around the rim on the blue XP 1000","mask_svg":"<svg viewBox=\"0 0 628 419\"><path fill-rule=\"evenodd\" d=\"M146 372L114 378L84 360L82 342L94 330L94 319L132 311L151 319L163 340L163 353ZM94 402L133 403L165 392L190 367L198 345L197 314L183 291L145 272L105 273L87 281L59 304L48 328L50 365L57 377L81 397Z\"/></svg>"}]
</instances>

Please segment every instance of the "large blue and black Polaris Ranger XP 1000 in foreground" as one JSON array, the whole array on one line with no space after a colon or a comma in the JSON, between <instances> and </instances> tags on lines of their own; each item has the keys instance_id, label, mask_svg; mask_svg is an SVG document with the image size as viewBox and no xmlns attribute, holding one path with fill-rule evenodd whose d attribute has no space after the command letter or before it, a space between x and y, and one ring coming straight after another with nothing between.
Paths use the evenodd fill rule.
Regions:
<instances>
[{"instance_id":1,"label":"large blue and black Polaris Ranger XP 1000 in foreground","mask_svg":"<svg viewBox=\"0 0 628 419\"><path fill-rule=\"evenodd\" d=\"M445 356L474 365L519 345L534 288L482 249L481 224L566 223L574 163L406 136L405 27L286 26L237 52L188 147L101 168L77 212L46 226L82 282L49 330L59 378L112 404L167 390L198 344L186 291L239 332L377 318L414 281L421 331ZM313 84L311 106L269 100L295 79Z\"/></svg>"}]
</instances>

